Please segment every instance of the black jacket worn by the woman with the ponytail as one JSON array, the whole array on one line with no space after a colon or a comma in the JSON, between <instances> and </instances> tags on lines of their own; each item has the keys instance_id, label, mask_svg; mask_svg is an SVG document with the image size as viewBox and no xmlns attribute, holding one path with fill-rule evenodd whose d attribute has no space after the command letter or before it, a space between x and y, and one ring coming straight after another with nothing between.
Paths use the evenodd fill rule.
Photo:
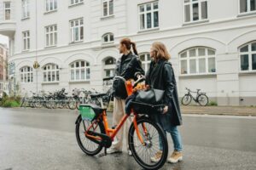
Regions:
<instances>
[{"instance_id":1,"label":"black jacket worn by the woman with the ponytail","mask_svg":"<svg viewBox=\"0 0 256 170\"><path fill-rule=\"evenodd\" d=\"M124 77L125 80L137 80L137 74L145 74L142 68L142 62L137 55L129 53L117 60L115 76ZM123 81L118 80L113 82L113 96L118 99L127 98L125 83Z\"/></svg>"}]
</instances>

